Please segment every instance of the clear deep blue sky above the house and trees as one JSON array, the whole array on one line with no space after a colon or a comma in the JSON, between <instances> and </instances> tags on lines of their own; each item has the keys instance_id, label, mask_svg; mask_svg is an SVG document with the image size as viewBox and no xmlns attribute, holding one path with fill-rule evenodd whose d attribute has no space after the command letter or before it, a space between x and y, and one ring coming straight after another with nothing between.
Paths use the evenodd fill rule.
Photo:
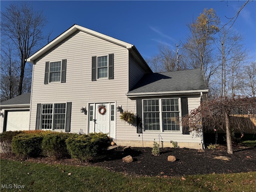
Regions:
<instances>
[{"instance_id":1,"label":"clear deep blue sky above the house and trees","mask_svg":"<svg viewBox=\"0 0 256 192\"><path fill-rule=\"evenodd\" d=\"M12 1L0 2L1 12ZM245 1L30 1L48 20L44 34L51 40L73 24L134 44L144 58L158 52L158 44L175 49L189 34L186 23L213 8L222 24L236 14ZM256 1L242 9L233 28L244 35L244 44L256 61Z\"/></svg>"}]
</instances>

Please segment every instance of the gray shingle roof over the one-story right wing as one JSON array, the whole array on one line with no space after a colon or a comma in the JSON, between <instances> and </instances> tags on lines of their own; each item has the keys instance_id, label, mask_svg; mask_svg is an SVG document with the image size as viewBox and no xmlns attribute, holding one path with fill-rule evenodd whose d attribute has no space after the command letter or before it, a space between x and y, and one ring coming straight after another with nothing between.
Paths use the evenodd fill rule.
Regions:
<instances>
[{"instance_id":1,"label":"gray shingle roof over the one-story right wing","mask_svg":"<svg viewBox=\"0 0 256 192\"><path fill-rule=\"evenodd\" d=\"M144 75L128 94L207 90L200 69Z\"/></svg>"}]
</instances>

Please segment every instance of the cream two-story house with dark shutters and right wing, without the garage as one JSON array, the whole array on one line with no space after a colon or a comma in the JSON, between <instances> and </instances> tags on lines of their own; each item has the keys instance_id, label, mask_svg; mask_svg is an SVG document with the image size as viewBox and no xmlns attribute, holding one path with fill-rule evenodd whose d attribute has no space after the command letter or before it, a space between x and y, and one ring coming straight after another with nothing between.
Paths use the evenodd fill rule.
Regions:
<instances>
[{"instance_id":1,"label":"cream two-story house with dark shutters and right wing, without the garage","mask_svg":"<svg viewBox=\"0 0 256 192\"><path fill-rule=\"evenodd\" d=\"M27 62L30 130L103 132L122 146L152 147L156 139L202 148L202 138L179 120L208 92L199 69L153 73L134 45L76 24ZM120 120L124 110L136 114L133 124Z\"/></svg>"}]
</instances>

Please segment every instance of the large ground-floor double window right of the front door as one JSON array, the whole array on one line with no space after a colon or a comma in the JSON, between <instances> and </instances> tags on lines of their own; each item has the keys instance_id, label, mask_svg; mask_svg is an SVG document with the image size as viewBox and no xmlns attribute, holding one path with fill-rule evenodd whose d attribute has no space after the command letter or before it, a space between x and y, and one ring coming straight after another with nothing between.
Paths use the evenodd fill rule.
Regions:
<instances>
[{"instance_id":1,"label":"large ground-floor double window right of the front door","mask_svg":"<svg viewBox=\"0 0 256 192\"><path fill-rule=\"evenodd\" d=\"M146 132L180 132L180 116L178 98L143 100L143 124Z\"/></svg>"}]
</instances>

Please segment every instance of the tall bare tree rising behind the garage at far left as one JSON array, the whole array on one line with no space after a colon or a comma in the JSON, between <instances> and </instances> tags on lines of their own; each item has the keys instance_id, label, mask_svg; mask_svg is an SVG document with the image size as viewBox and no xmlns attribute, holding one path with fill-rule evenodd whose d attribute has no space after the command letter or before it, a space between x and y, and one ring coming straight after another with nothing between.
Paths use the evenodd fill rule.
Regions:
<instances>
[{"instance_id":1,"label":"tall bare tree rising behind the garage at far left","mask_svg":"<svg viewBox=\"0 0 256 192\"><path fill-rule=\"evenodd\" d=\"M45 25L46 19L42 12L34 11L27 2L12 3L5 12L1 12L1 36L12 42L20 58L18 95L23 93L26 59L44 39L42 29Z\"/></svg>"}]
</instances>

